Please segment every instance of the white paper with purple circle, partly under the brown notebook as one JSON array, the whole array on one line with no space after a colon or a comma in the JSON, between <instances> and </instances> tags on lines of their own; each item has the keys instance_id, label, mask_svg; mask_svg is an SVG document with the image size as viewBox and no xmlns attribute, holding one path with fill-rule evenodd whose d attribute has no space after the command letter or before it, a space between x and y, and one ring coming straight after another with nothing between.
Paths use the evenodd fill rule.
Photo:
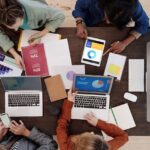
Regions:
<instances>
[{"instance_id":1,"label":"white paper with purple circle, partly under the brown notebook","mask_svg":"<svg viewBox=\"0 0 150 150\"><path fill-rule=\"evenodd\" d=\"M51 75L54 76L57 74L61 75L65 89L70 89L74 74L85 74L85 65L52 66Z\"/></svg>"}]
</instances>

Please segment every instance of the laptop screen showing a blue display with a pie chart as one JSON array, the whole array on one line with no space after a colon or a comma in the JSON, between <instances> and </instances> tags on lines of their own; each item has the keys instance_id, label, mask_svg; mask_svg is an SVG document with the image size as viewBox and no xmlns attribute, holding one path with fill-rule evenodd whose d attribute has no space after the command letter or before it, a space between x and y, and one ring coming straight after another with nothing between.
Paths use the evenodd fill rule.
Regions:
<instances>
[{"instance_id":1,"label":"laptop screen showing a blue display with a pie chart","mask_svg":"<svg viewBox=\"0 0 150 150\"><path fill-rule=\"evenodd\" d=\"M82 93L109 94L112 83L112 77L75 75L73 88Z\"/></svg>"}]
</instances>

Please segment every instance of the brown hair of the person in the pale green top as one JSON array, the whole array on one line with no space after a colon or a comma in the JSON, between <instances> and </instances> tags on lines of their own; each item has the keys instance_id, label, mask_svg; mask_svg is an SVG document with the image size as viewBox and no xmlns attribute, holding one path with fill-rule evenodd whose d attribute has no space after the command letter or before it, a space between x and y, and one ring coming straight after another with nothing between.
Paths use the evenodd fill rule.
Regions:
<instances>
[{"instance_id":1,"label":"brown hair of the person in the pale green top","mask_svg":"<svg viewBox=\"0 0 150 150\"><path fill-rule=\"evenodd\" d=\"M22 5L17 0L0 0L0 24L12 26L17 18L23 18Z\"/></svg>"}]
</instances>

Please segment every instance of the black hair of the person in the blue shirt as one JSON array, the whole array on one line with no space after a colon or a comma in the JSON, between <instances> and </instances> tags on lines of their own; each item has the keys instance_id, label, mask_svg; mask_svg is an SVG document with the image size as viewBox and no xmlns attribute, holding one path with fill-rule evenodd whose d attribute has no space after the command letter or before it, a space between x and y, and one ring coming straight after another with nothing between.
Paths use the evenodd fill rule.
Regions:
<instances>
[{"instance_id":1,"label":"black hair of the person in the blue shirt","mask_svg":"<svg viewBox=\"0 0 150 150\"><path fill-rule=\"evenodd\" d=\"M123 29L132 18L137 0L98 0L100 8L104 9L109 21Z\"/></svg>"}]
</instances>

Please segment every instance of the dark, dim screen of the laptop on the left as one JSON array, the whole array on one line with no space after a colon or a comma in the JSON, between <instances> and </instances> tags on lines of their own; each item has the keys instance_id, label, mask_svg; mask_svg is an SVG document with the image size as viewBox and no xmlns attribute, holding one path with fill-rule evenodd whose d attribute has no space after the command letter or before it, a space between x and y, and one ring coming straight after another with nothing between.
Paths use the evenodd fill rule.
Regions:
<instances>
[{"instance_id":1,"label":"dark, dim screen of the laptop on the left","mask_svg":"<svg viewBox=\"0 0 150 150\"><path fill-rule=\"evenodd\" d=\"M6 91L42 90L39 77L3 77L1 81Z\"/></svg>"}]
</instances>

